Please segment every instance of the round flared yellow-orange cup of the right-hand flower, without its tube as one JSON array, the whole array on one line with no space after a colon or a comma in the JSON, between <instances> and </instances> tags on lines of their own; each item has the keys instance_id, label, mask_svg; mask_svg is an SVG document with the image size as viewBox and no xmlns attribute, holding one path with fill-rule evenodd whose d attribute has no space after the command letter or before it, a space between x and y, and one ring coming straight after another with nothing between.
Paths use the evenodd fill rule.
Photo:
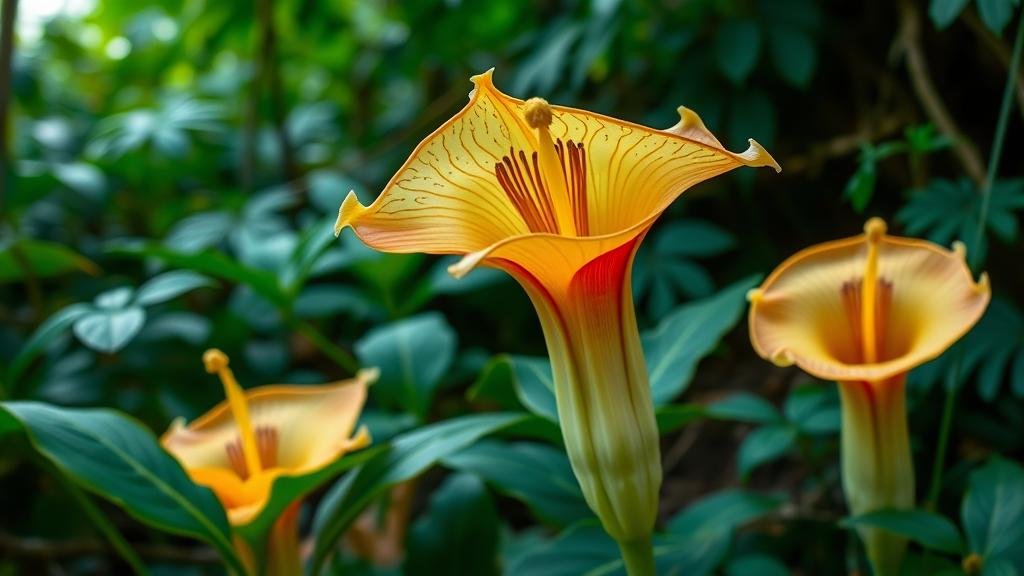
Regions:
<instances>
[{"instance_id":1,"label":"round flared yellow-orange cup of the right-hand flower, without its tube","mask_svg":"<svg viewBox=\"0 0 1024 576\"><path fill-rule=\"evenodd\" d=\"M868 274L877 280L865 292ZM872 219L864 235L797 253L752 291L751 341L762 357L819 378L881 381L939 356L989 296L963 247L886 236ZM866 318L865 305L873 311Z\"/></svg>"}]
</instances>

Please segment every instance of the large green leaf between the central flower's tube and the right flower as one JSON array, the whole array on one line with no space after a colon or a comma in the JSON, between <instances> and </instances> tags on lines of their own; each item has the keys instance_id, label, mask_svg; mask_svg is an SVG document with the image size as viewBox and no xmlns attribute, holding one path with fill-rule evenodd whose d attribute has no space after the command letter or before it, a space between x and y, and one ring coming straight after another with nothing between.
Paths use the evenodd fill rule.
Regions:
<instances>
[{"instance_id":1,"label":"large green leaf between the central flower's tube and the right flower","mask_svg":"<svg viewBox=\"0 0 1024 576\"><path fill-rule=\"evenodd\" d=\"M697 362L735 326L746 308L746 291L759 281L760 276L752 276L714 296L684 304L643 334L655 406L668 404L686 389Z\"/></svg>"}]
</instances>

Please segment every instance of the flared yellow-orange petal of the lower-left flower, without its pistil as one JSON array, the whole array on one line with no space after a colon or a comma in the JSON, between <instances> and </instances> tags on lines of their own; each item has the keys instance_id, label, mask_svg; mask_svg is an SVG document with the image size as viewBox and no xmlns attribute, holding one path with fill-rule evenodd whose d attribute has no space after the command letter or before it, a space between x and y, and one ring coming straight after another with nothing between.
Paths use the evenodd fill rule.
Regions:
<instances>
[{"instance_id":1,"label":"flared yellow-orange petal of the lower-left flower, without its pistil","mask_svg":"<svg viewBox=\"0 0 1024 576\"><path fill-rule=\"evenodd\" d=\"M355 430L373 371L331 384L270 385L245 393L261 469L250 474L239 425L227 401L184 424L175 420L161 439L191 479L211 488L232 524L255 518L274 480L316 471L369 444ZM353 435L354 433L354 435Z\"/></svg>"}]
</instances>

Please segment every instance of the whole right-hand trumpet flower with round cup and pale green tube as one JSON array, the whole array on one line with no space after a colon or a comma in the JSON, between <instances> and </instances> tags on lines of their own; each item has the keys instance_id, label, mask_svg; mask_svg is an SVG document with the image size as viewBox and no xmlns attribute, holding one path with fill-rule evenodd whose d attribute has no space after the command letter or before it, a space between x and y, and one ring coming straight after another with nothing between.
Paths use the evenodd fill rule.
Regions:
<instances>
[{"instance_id":1,"label":"whole right-hand trumpet flower with round cup and pale green tube","mask_svg":"<svg viewBox=\"0 0 1024 576\"><path fill-rule=\"evenodd\" d=\"M854 515L913 506L913 465L904 384L978 321L989 300L953 250L886 235L871 218L864 234L812 246L751 291L754 348L779 366L840 386L843 490ZM898 574L906 542L861 529L874 573Z\"/></svg>"}]
</instances>

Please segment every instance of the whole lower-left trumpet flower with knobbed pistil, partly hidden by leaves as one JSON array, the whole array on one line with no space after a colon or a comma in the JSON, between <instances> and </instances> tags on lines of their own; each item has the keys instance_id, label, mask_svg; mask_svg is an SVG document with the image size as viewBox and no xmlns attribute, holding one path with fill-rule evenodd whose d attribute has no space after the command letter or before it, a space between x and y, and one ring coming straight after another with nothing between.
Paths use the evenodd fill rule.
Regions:
<instances>
[{"instance_id":1,"label":"whole lower-left trumpet flower with knobbed pistil, partly hidden by leaves","mask_svg":"<svg viewBox=\"0 0 1024 576\"><path fill-rule=\"evenodd\" d=\"M193 482L213 490L232 526L253 522L267 505L274 481L316 472L370 444L355 431L377 370L318 386L278 384L243 390L219 349L203 355L220 377L226 401L187 425L178 418L161 443ZM268 538L267 569L301 572L296 534L298 502L276 521ZM250 554L244 553L243 557Z\"/></svg>"}]
</instances>

